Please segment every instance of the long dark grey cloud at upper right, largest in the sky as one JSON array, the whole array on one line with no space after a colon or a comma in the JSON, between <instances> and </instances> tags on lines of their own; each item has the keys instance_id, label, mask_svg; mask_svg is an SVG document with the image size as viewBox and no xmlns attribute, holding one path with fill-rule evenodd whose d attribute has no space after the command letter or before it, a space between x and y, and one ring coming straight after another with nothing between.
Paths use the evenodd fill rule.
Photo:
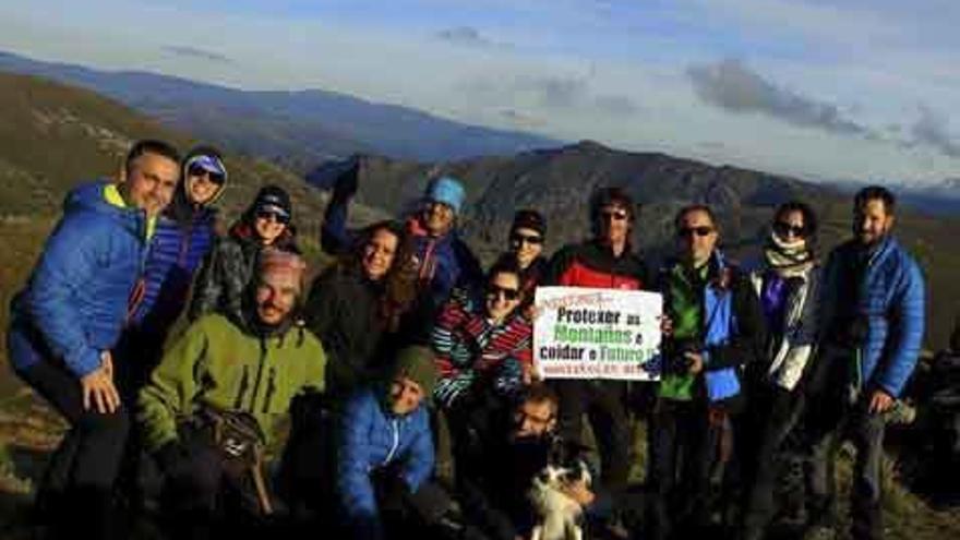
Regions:
<instances>
[{"instance_id":1,"label":"long dark grey cloud at upper right, largest in the sky","mask_svg":"<svg viewBox=\"0 0 960 540\"><path fill-rule=\"evenodd\" d=\"M849 118L833 104L777 86L740 60L692 65L687 76L705 103L734 113L760 113L838 135L877 139L871 129Z\"/></svg>"}]
</instances>

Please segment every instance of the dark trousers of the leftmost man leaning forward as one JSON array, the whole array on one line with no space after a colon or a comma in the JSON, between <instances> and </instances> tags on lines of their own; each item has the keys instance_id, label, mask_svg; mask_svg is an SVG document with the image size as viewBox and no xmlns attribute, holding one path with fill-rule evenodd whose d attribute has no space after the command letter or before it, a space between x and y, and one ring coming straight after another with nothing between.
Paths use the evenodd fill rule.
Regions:
<instances>
[{"instance_id":1,"label":"dark trousers of the leftmost man leaning forward","mask_svg":"<svg viewBox=\"0 0 960 540\"><path fill-rule=\"evenodd\" d=\"M110 502L130 429L130 404L108 413L84 410L80 380L52 361L19 374L70 424L37 493L40 513L53 525L53 537L75 537L83 530L91 538L109 538Z\"/></svg>"}]
</instances>

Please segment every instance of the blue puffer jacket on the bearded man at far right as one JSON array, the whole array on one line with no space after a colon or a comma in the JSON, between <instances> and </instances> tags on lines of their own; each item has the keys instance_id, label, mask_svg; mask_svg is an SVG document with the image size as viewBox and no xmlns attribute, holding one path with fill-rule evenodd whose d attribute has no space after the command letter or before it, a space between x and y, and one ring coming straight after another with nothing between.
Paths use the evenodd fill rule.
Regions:
<instances>
[{"instance_id":1,"label":"blue puffer jacket on the bearded man at far right","mask_svg":"<svg viewBox=\"0 0 960 540\"><path fill-rule=\"evenodd\" d=\"M830 296L850 284L847 276L859 247L853 241L837 248L827 262L823 291L827 295L825 321L837 324L835 314L845 308L830 307ZM876 247L860 279L854 316L866 322L860 348L860 381L879 387L893 397L900 395L913 373L923 344L925 287L920 265L897 240L888 237Z\"/></svg>"}]
</instances>

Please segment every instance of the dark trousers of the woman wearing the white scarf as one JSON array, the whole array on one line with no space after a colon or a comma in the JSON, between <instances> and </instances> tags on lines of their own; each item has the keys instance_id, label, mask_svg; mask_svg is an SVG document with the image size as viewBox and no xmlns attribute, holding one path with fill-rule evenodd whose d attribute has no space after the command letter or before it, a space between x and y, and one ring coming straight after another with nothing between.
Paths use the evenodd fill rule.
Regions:
<instances>
[{"instance_id":1,"label":"dark trousers of the woman wearing the white scarf","mask_svg":"<svg viewBox=\"0 0 960 540\"><path fill-rule=\"evenodd\" d=\"M751 400L748 441L742 441L746 493L743 508L743 538L759 539L773 517L777 456L803 406L800 393L766 386Z\"/></svg>"}]
</instances>

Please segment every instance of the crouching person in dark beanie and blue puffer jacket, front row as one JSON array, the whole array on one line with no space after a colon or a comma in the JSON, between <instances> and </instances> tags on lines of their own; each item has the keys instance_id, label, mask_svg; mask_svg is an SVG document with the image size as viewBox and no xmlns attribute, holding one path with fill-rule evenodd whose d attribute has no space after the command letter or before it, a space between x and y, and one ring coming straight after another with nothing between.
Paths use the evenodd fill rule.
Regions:
<instances>
[{"instance_id":1,"label":"crouching person in dark beanie and blue puffer jacket, front row","mask_svg":"<svg viewBox=\"0 0 960 540\"><path fill-rule=\"evenodd\" d=\"M337 433L335 475L338 511L352 538L393 537L398 514L433 512L423 508L434 503L420 492L433 472L424 399L435 386L432 351L407 347L397 353L386 385L360 391L347 401Z\"/></svg>"}]
</instances>

